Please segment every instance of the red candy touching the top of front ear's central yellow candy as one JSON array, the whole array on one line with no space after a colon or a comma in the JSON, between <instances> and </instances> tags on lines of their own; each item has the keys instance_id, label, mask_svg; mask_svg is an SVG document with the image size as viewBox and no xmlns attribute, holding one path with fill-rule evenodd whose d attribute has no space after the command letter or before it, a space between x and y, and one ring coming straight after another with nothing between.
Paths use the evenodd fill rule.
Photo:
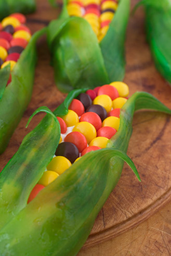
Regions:
<instances>
[{"instance_id":1,"label":"red candy touching the top of front ear's central yellow candy","mask_svg":"<svg viewBox=\"0 0 171 256\"><path fill-rule=\"evenodd\" d=\"M93 125L96 130L100 129L101 127L101 119L99 115L94 112L84 113L80 118L80 122L88 122Z\"/></svg>"}]
</instances>

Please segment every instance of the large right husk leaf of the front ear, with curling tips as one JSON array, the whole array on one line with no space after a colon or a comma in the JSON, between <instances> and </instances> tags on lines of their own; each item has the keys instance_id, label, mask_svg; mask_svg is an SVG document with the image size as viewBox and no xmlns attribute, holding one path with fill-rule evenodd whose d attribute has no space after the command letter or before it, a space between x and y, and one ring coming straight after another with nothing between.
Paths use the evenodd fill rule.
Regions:
<instances>
[{"instance_id":1,"label":"large right husk leaf of the front ear, with curling tips","mask_svg":"<svg viewBox=\"0 0 171 256\"><path fill-rule=\"evenodd\" d=\"M56 113L65 112L67 101L77 94L70 93ZM131 136L134 112L147 108L171 114L148 93L137 92L131 96L121 110L120 128L107 148L83 156L1 229L2 255L77 254L121 176L123 160L136 173L134 164L124 152Z\"/></svg>"}]
</instances>

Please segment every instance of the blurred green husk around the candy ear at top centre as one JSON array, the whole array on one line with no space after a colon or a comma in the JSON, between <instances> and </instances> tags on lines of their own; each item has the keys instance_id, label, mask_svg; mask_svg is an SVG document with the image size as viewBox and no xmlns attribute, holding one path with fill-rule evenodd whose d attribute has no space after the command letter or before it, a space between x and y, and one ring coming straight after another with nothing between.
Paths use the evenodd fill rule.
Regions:
<instances>
[{"instance_id":1,"label":"blurred green husk around the candy ear at top centre","mask_svg":"<svg viewBox=\"0 0 171 256\"><path fill-rule=\"evenodd\" d=\"M63 2L62 13L57 20L50 22L47 37L58 88L69 92L123 80L129 0L120 0L100 44L89 23L80 17L69 17L67 1Z\"/></svg>"}]
</instances>

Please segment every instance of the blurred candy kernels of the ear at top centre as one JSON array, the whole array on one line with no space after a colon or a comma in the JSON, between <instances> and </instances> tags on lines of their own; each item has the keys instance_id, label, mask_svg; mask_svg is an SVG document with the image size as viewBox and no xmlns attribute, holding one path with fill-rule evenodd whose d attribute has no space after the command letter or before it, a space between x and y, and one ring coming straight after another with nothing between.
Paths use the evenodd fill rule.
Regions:
<instances>
[{"instance_id":1,"label":"blurred candy kernels of the ear at top centre","mask_svg":"<svg viewBox=\"0 0 171 256\"><path fill-rule=\"evenodd\" d=\"M69 0L67 9L70 16L86 19L101 41L109 29L117 5L117 0Z\"/></svg>"}]
</instances>

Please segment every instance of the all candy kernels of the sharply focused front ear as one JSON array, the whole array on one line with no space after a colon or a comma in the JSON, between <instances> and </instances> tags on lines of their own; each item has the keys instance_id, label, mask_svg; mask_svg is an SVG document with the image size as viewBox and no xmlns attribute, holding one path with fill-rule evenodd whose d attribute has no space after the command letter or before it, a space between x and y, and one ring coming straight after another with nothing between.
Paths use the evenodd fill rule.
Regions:
<instances>
[{"instance_id":1,"label":"all candy kernels of the sharply focused front ear","mask_svg":"<svg viewBox=\"0 0 171 256\"><path fill-rule=\"evenodd\" d=\"M58 148L28 202L83 155L106 148L119 129L120 109L128 94L127 84L112 82L87 90L72 100L68 114L57 117L61 128Z\"/></svg>"}]
</instances>

